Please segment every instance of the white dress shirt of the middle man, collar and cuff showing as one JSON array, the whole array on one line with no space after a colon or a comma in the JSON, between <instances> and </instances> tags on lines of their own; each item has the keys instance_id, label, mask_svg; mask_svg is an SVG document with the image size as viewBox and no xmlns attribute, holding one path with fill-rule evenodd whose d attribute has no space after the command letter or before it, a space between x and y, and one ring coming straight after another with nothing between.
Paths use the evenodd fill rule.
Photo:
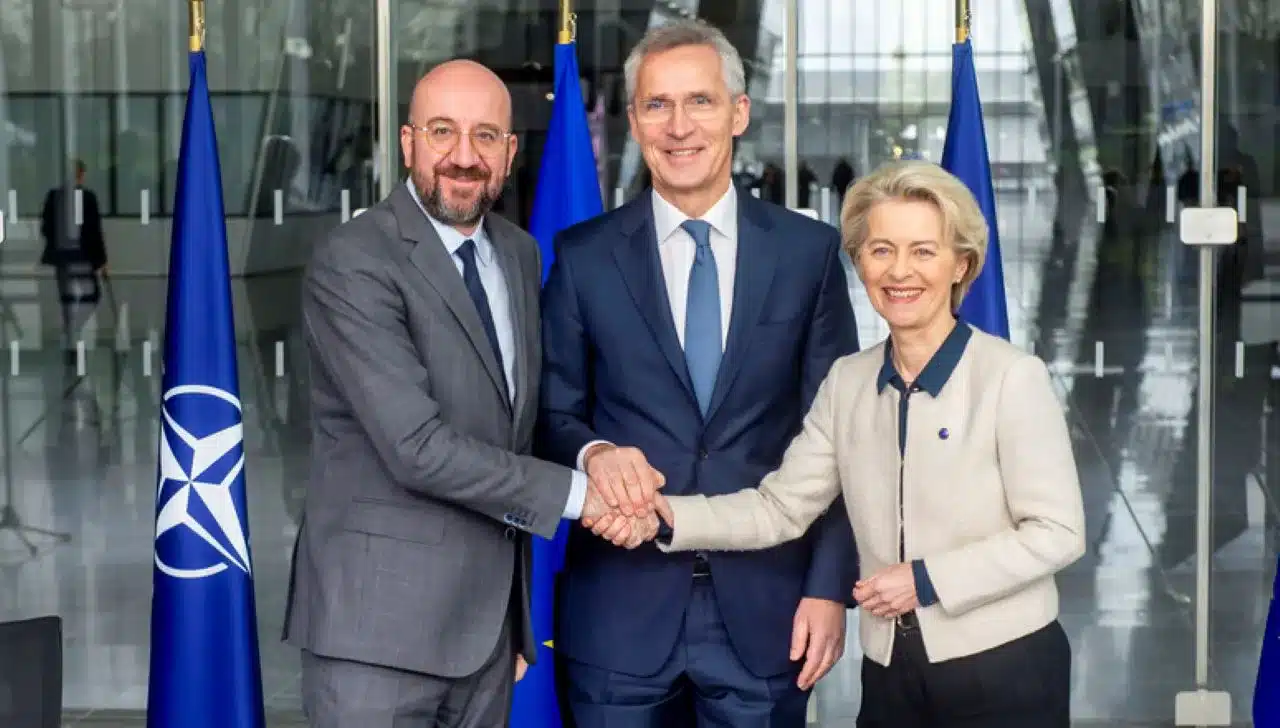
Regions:
<instances>
[{"instance_id":1,"label":"white dress shirt of the middle man, collar and cuff showing","mask_svg":"<svg viewBox=\"0 0 1280 728\"><path fill-rule=\"evenodd\" d=\"M652 192L653 229L658 237L658 260L667 283L667 301L671 319L676 324L676 336L685 345L685 317L689 306L689 274L694 269L698 243L681 225L691 220L675 205ZM733 313L733 278L737 274L737 189L732 184L705 215L698 218L712 226L710 243L716 255L716 273L721 294L721 349L728 342L728 322ZM577 452L577 470L584 470L582 455L588 448L608 440L591 440Z\"/></svg>"}]
</instances>

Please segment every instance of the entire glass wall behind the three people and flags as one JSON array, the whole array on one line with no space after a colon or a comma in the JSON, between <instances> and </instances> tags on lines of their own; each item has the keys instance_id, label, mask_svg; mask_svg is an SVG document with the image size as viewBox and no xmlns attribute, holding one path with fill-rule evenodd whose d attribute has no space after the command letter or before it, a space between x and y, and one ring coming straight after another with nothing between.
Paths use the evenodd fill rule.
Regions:
<instances>
[{"instance_id":1,"label":"entire glass wall behind the three people and flags","mask_svg":"<svg viewBox=\"0 0 1280 728\"><path fill-rule=\"evenodd\" d=\"M1059 580L1075 716L1167 723L1175 695L1197 682L1201 278L1176 220L1203 192L1202 3L972 5L1012 339L1050 363L1085 490L1089 550ZM836 224L851 180L893 159L941 159L952 0L576 0L575 10L607 207L648 184L622 63L648 28L680 17L721 27L748 61L753 118L735 171L750 193L785 203L794 175L796 206ZM557 14L550 0L209 5L275 714L298 708L297 655L275 638L308 467L298 269L320 235L402 179L397 129L411 91L449 58L485 63L512 90L521 151L499 211L527 223ZM1242 722L1280 523L1280 19L1249 0L1221 0L1216 18L1208 200L1239 209L1243 242L1212 266L1206 684L1231 695ZM0 342L12 354L0 361L0 427L14 505L0 513L0 564L12 567L0 568L0 621L63 618L72 722L137 710L146 695L157 347L186 47L180 3L0 0ZM106 247L96 293L40 262L46 200L74 193L77 160ZM851 267L849 278L869 345L887 329ZM856 635L856 612L850 619ZM859 659L851 640L819 686L822 725L856 714Z\"/></svg>"}]
</instances>

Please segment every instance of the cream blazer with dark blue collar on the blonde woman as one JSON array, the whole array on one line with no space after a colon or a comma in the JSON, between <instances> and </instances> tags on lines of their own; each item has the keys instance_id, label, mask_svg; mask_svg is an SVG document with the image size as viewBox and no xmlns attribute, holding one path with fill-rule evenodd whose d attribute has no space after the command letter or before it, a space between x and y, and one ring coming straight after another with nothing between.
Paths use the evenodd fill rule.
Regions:
<instances>
[{"instance_id":1,"label":"cream blazer with dark blue collar on the blonde woman","mask_svg":"<svg viewBox=\"0 0 1280 728\"><path fill-rule=\"evenodd\" d=\"M884 343L838 360L778 470L758 489L671 496L667 551L754 550L797 539L844 493L864 577L923 558L929 661L972 655L1057 618L1053 574L1084 553L1084 507L1062 404L1044 363L974 329L934 399L911 395L899 455L897 389L877 390ZM946 430L943 432L942 430ZM891 619L863 613L864 654L887 665Z\"/></svg>"}]
</instances>

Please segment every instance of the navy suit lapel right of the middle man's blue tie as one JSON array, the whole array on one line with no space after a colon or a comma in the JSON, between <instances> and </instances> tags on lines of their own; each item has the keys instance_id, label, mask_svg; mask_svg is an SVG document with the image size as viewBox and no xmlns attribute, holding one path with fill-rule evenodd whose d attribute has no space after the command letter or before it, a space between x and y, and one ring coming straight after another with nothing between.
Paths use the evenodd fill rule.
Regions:
<instances>
[{"instance_id":1,"label":"navy suit lapel right of the middle man's blue tie","mask_svg":"<svg viewBox=\"0 0 1280 728\"><path fill-rule=\"evenodd\" d=\"M754 197L737 197L737 267L733 276L733 310L730 315L724 356L716 376L716 389L707 408L707 422L724 403L733 379L742 368L751 343L751 329L760 317L760 308L769 296L778 249L769 239L773 224Z\"/></svg>"}]
</instances>

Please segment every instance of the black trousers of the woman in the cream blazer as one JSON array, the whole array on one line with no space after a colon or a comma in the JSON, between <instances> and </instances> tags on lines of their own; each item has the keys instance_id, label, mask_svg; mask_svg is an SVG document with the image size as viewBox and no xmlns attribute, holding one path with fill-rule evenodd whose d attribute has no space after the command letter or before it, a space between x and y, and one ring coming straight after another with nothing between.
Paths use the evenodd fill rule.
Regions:
<instances>
[{"instance_id":1,"label":"black trousers of the woman in the cream blazer","mask_svg":"<svg viewBox=\"0 0 1280 728\"><path fill-rule=\"evenodd\" d=\"M858 728L1070 728L1071 646L1057 622L989 650L929 664L899 628L888 667L863 659Z\"/></svg>"}]
</instances>

